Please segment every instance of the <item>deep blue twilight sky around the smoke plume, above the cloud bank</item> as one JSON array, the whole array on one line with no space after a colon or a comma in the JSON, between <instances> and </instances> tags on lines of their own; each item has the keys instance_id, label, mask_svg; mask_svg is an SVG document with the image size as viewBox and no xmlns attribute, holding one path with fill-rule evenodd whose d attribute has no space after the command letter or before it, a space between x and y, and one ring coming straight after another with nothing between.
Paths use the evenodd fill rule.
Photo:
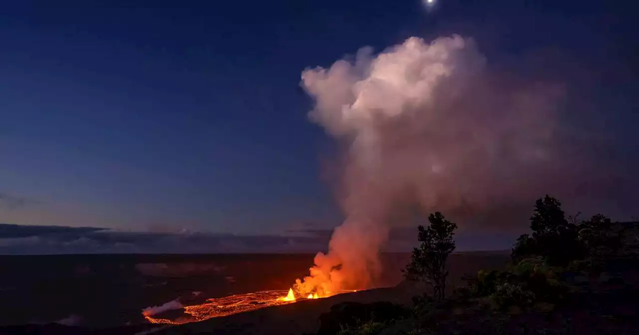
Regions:
<instances>
[{"instance_id":1,"label":"deep blue twilight sky around the smoke plume, above the cloud bank","mask_svg":"<svg viewBox=\"0 0 639 335\"><path fill-rule=\"evenodd\" d=\"M597 92L585 123L610 128L630 159L630 3L12 1L0 10L0 222L332 227L330 140L307 120L300 73L410 36L472 36L494 64L546 49L578 60Z\"/></svg>"}]
</instances>

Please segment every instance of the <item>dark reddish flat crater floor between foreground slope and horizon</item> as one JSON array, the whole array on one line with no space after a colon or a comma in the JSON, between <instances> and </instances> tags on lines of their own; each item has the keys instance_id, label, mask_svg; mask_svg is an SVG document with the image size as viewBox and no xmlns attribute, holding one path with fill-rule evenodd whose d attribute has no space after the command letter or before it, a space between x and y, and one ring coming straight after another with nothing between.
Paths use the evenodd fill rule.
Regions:
<instances>
[{"instance_id":1,"label":"dark reddish flat crater floor between foreground slope and horizon","mask_svg":"<svg viewBox=\"0 0 639 335\"><path fill-rule=\"evenodd\" d=\"M295 278L307 274L313 255L52 255L0 256L0 334L25 330L23 325L61 323L96 332L135 332L148 328L142 309L174 299L182 304L198 304L207 298L244 294L259 290L288 290ZM401 280L400 269L410 255L384 255L386 267L382 286ZM484 268L504 267L504 253L458 253L450 258L452 283L461 283L464 274ZM201 292L194 294L194 292ZM318 301L279 306L284 315L292 311L308 331L316 329L319 314L343 299L375 301L401 298L395 291L356 292ZM408 297L408 295L406 295ZM361 300L360 300L361 299ZM410 301L410 297L406 298ZM405 300L405 299L404 299ZM279 311L279 309L275 309ZM256 314L255 314L256 313ZM227 316L235 322L247 316ZM275 312L279 315L279 312ZM270 318L270 316L265 316ZM208 320L218 323L219 320ZM259 324L259 321L252 321ZM241 322L244 323L244 322ZM250 323L250 322L249 322ZM56 331L59 326L53 327ZM297 329L293 327L291 331ZM40 326L38 329L42 329ZM70 334L73 329L63 329Z\"/></svg>"}]
</instances>

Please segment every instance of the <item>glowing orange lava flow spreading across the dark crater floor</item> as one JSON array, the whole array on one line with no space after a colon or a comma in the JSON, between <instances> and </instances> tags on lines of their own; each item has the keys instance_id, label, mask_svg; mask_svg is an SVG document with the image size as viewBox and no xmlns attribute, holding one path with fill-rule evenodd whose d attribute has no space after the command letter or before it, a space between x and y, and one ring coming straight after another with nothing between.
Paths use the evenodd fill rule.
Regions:
<instances>
[{"instance_id":1,"label":"glowing orange lava flow spreading across the dark crater floor","mask_svg":"<svg viewBox=\"0 0 639 335\"><path fill-rule=\"evenodd\" d=\"M353 292L351 290L343 290L335 294ZM255 309L265 308L269 306L278 306L284 304L291 304L298 300L306 299L319 299L330 297L329 295L319 297L317 293L309 294L306 298L296 297L292 288L289 288L288 292L283 290L270 290L260 291L249 294L236 294L229 295L228 297L207 299L206 302L199 305L185 306L184 316L177 318L176 320L170 320L167 318L155 318L150 313L144 312L144 318L153 324L187 324L189 322L203 321L210 318L217 318L219 316L227 316L236 313L242 313L247 311L253 311ZM286 294L286 295L284 295Z\"/></svg>"}]
</instances>

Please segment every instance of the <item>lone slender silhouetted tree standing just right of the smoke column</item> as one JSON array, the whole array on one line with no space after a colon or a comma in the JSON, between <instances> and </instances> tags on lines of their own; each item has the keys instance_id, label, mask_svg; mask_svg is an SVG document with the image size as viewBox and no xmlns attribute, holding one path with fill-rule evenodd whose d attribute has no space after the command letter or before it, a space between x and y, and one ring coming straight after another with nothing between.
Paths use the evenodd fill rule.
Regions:
<instances>
[{"instance_id":1,"label":"lone slender silhouetted tree standing just right of the smoke column","mask_svg":"<svg viewBox=\"0 0 639 335\"><path fill-rule=\"evenodd\" d=\"M457 225L446 220L440 212L430 214L428 221L430 225L427 228L417 228L417 240L422 243L419 248L413 249L411 262L406 265L404 275L406 279L431 285L435 299L443 299L448 276L446 260L455 249L452 237Z\"/></svg>"}]
</instances>

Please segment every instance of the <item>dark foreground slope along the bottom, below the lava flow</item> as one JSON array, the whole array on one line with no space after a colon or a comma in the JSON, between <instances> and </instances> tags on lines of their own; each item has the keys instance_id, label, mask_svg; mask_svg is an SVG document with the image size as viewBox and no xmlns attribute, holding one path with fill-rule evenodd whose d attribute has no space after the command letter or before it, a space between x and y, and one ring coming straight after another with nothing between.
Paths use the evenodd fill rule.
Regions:
<instances>
[{"instance_id":1,"label":"dark foreground slope along the bottom, below the lava flow","mask_svg":"<svg viewBox=\"0 0 639 335\"><path fill-rule=\"evenodd\" d=\"M403 283L392 288L305 300L185 325L140 324L90 329L49 324L0 327L0 334L639 334L635 317L638 274L629 271L625 278L581 278L583 290L574 292L564 305L547 310L544 310L547 306L542 306L531 311L495 311L482 304L451 299L433 304L426 318L414 318L410 309L415 287ZM380 332L374 329L375 323L366 321L364 325L372 325L371 332L345 330L344 321L348 322L348 317L343 318L344 311L352 314L350 309L381 301L402 304L409 312L405 318L385 324ZM342 318L331 320L335 315ZM433 325L428 324L429 320L437 321ZM331 324L332 321L335 323ZM353 321L362 324L359 320Z\"/></svg>"}]
</instances>

